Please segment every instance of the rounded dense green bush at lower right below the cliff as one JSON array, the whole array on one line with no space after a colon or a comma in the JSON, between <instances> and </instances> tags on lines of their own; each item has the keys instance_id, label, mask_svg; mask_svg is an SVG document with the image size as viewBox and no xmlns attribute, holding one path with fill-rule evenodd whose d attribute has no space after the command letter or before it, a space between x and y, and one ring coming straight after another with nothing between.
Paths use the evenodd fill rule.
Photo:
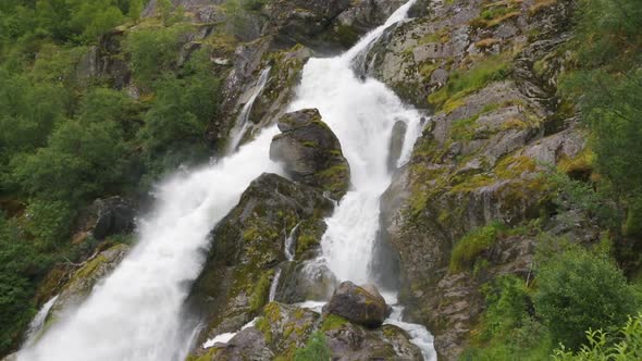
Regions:
<instances>
[{"instance_id":1,"label":"rounded dense green bush at lower right below the cliff","mask_svg":"<svg viewBox=\"0 0 642 361\"><path fill-rule=\"evenodd\" d=\"M541 265L534 306L555 344L577 349L583 332L622 324L637 299L608 259L571 248Z\"/></svg>"}]
</instances>

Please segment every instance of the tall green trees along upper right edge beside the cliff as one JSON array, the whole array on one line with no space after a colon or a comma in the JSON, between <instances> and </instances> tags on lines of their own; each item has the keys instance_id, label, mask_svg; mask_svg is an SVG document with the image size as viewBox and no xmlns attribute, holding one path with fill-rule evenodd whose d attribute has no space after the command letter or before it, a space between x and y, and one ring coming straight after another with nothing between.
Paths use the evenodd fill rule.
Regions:
<instances>
[{"instance_id":1,"label":"tall green trees along upper right edge beside the cliff","mask_svg":"<svg viewBox=\"0 0 642 361\"><path fill-rule=\"evenodd\" d=\"M591 130L597 172L616 207L618 234L642 222L642 8L637 0L582 0L577 12L576 69L561 94L577 99ZM626 214L628 212L628 214Z\"/></svg>"}]
</instances>

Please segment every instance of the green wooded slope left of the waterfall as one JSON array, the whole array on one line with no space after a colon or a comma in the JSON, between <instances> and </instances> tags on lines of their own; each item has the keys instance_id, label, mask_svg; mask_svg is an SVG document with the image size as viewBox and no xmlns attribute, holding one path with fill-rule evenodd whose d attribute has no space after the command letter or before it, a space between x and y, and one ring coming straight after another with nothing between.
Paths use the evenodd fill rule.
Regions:
<instances>
[{"instance_id":1,"label":"green wooded slope left of the waterfall","mask_svg":"<svg viewBox=\"0 0 642 361\"><path fill-rule=\"evenodd\" d=\"M16 346L50 267L92 252L90 240L71 242L84 208L143 197L210 154L212 49L184 59L193 25L169 1L141 20L146 2L0 3L0 354Z\"/></svg>"}]
</instances>

